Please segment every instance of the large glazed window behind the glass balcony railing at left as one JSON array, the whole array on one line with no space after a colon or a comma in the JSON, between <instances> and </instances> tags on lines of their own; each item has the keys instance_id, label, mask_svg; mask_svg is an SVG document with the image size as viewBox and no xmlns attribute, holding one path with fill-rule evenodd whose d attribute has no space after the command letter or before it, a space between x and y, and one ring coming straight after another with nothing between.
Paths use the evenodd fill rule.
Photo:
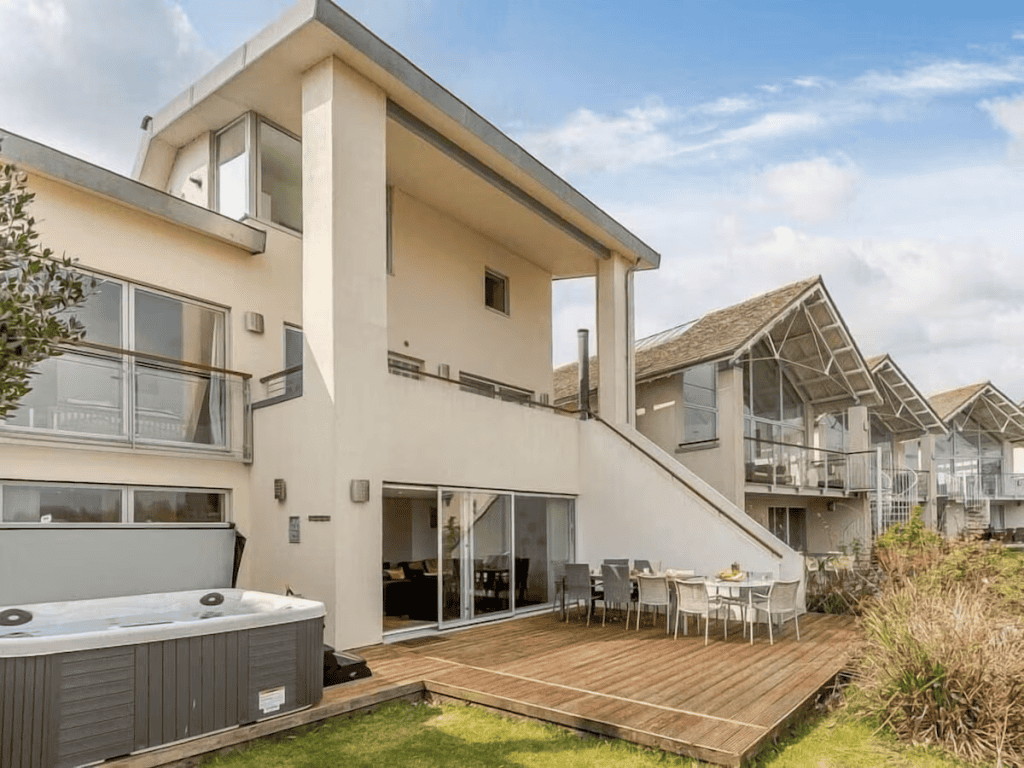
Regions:
<instances>
[{"instance_id":1,"label":"large glazed window behind the glass balcony railing at left","mask_svg":"<svg viewBox=\"0 0 1024 768\"><path fill-rule=\"evenodd\" d=\"M40 364L7 426L228 447L223 309L103 279L78 316L97 346Z\"/></svg>"}]
</instances>

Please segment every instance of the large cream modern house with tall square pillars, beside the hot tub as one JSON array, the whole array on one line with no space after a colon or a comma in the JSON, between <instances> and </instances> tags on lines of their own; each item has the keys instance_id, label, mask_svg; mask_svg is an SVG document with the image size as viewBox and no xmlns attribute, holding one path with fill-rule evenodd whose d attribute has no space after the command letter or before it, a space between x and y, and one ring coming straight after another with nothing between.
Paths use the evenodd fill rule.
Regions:
<instances>
[{"instance_id":1,"label":"large cream modern house with tall square pillars, beside the hot tub","mask_svg":"<svg viewBox=\"0 0 1024 768\"><path fill-rule=\"evenodd\" d=\"M100 281L0 426L0 603L223 584L230 525L240 586L324 601L338 647L550 607L567 560L801 573L631 426L658 254L337 6L146 122L137 180L0 133ZM575 275L601 420L549 404Z\"/></svg>"}]
</instances>

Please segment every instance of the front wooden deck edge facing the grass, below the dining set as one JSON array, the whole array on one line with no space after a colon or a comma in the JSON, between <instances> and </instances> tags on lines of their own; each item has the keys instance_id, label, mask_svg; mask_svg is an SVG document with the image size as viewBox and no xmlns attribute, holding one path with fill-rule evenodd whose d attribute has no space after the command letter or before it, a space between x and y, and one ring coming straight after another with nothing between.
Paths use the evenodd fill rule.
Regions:
<instances>
[{"instance_id":1,"label":"front wooden deck edge facing the grass, below the dining set","mask_svg":"<svg viewBox=\"0 0 1024 768\"><path fill-rule=\"evenodd\" d=\"M724 752L708 746L699 746L697 744L692 744L688 741L682 741L669 736L658 736L655 733L650 733L638 728L615 725L614 723L608 723L603 720L573 715L569 712L562 712L550 707L529 703L528 701L520 701L507 696L467 690L466 688L462 688L457 685L439 683L434 680L425 681L425 685L428 693L444 696L446 698L468 701L470 703L486 707L492 710L510 712L514 715L521 715L534 720L541 720L546 723L554 723L555 725L560 725L578 731L586 731L598 736L618 738L624 741L640 744L641 746L650 746L662 750L663 752L672 753L674 755L682 755L683 757L702 760L706 763L727 766L728 768L739 768L741 765L741 757L735 753ZM600 696L601 694L594 693L593 695ZM759 743L761 739L758 739Z\"/></svg>"}]
</instances>

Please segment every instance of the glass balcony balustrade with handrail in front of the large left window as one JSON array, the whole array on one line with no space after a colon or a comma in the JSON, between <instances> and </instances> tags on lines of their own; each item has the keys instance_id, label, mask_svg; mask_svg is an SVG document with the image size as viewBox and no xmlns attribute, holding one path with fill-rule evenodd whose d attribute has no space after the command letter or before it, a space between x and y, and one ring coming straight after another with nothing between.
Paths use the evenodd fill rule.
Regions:
<instances>
[{"instance_id":1,"label":"glass balcony balustrade with handrail in front of the large left window","mask_svg":"<svg viewBox=\"0 0 1024 768\"><path fill-rule=\"evenodd\" d=\"M44 360L4 434L252 461L249 375L104 344Z\"/></svg>"}]
</instances>

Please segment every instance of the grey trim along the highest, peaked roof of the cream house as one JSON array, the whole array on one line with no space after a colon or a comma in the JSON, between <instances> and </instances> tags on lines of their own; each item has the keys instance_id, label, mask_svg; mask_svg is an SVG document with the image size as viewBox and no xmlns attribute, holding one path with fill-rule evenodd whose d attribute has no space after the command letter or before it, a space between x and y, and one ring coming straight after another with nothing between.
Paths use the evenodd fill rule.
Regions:
<instances>
[{"instance_id":1,"label":"grey trim along the highest, peaked roof of the cream house","mask_svg":"<svg viewBox=\"0 0 1024 768\"><path fill-rule=\"evenodd\" d=\"M217 88L237 77L268 49L309 22L322 24L355 51L607 232L626 250L636 254L645 262L638 264L638 268L656 268L660 264L660 254L650 246L330 0L299 0L278 22L228 55L212 72L161 110L154 119L153 131L159 134L163 127L177 120ZM153 135L147 134L142 139L135 165L136 176L141 173L146 147Z\"/></svg>"}]
</instances>

